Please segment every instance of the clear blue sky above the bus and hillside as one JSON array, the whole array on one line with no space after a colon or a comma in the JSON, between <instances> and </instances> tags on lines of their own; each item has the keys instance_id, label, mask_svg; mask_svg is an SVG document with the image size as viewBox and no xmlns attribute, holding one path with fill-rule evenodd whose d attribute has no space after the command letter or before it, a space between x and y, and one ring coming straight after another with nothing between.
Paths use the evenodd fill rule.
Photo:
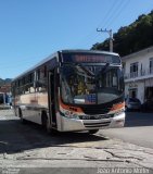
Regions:
<instances>
[{"instance_id":1,"label":"clear blue sky above the bus and hillside","mask_svg":"<svg viewBox=\"0 0 153 174\"><path fill-rule=\"evenodd\" d=\"M153 10L153 0L0 0L0 78L63 49L90 49Z\"/></svg>"}]
</instances>

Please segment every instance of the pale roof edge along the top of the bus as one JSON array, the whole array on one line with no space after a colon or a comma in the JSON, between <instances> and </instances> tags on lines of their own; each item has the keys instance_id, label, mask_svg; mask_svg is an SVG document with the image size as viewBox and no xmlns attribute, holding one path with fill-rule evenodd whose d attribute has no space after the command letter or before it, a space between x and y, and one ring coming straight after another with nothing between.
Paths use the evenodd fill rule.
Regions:
<instances>
[{"instance_id":1,"label":"pale roof edge along the top of the bus","mask_svg":"<svg viewBox=\"0 0 153 174\"><path fill-rule=\"evenodd\" d=\"M18 76L16 76L15 78L13 78L12 82L14 82L15 79L21 78L22 76L30 73L35 69L38 69L40 65L42 65L42 64L47 63L48 61L52 60L53 58L55 58L55 55L58 55L59 52L61 52L61 53L78 53L78 52L80 52L80 53L103 53L103 54L110 54L110 55L118 55L118 53L115 53L115 52L99 51L99 50L84 50L84 49L60 50L60 51L56 51L56 52L52 53L51 55L47 57L46 59L43 59L42 61L40 61L36 65L31 66L27 71L21 73Z\"/></svg>"}]
</instances>

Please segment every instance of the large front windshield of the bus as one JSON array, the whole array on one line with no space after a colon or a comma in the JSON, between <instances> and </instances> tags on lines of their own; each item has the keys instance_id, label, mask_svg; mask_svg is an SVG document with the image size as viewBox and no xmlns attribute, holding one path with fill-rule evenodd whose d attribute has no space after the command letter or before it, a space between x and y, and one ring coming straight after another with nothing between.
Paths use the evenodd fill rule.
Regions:
<instances>
[{"instance_id":1,"label":"large front windshield of the bus","mask_svg":"<svg viewBox=\"0 0 153 174\"><path fill-rule=\"evenodd\" d=\"M75 104L111 102L124 94L122 67L90 64L63 64L61 69L62 100Z\"/></svg>"}]
</instances>

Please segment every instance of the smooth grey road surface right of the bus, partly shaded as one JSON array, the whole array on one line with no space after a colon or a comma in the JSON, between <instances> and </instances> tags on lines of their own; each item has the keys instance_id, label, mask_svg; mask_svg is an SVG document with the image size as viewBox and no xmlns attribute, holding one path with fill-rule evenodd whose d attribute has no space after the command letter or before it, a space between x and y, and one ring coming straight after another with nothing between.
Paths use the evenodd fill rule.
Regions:
<instances>
[{"instance_id":1,"label":"smooth grey road surface right of the bus, partly shaded","mask_svg":"<svg viewBox=\"0 0 153 174\"><path fill-rule=\"evenodd\" d=\"M127 112L124 128L102 129L98 134L153 149L153 113Z\"/></svg>"}]
</instances>

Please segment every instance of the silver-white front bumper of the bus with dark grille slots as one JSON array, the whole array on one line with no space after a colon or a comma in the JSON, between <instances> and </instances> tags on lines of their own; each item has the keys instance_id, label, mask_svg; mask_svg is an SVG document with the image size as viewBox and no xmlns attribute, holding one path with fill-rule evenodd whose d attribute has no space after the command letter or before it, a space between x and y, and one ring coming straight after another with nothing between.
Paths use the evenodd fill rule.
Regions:
<instances>
[{"instance_id":1,"label":"silver-white front bumper of the bus with dark grille slots","mask_svg":"<svg viewBox=\"0 0 153 174\"><path fill-rule=\"evenodd\" d=\"M125 112L111 119L101 120L75 120L61 115L58 117L59 121L61 120L58 125L58 130L60 132L115 128L123 127L125 124Z\"/></svg>"}]
</instances>

